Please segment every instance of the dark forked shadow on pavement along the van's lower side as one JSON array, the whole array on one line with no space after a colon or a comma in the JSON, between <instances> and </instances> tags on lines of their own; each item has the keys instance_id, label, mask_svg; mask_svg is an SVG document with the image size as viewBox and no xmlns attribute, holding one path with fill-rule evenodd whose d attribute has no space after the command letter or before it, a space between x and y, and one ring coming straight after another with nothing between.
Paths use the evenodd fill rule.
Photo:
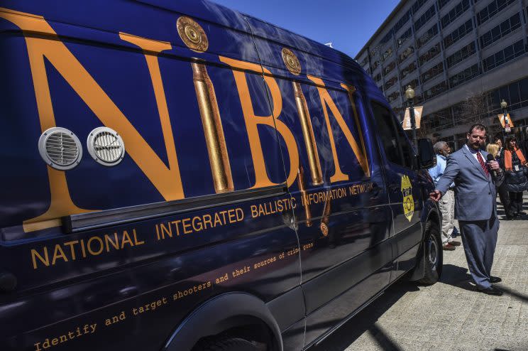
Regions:
<instances>
[{"instance_id":1,"label":"dark forked shadow on pavement along the van's lower side","mask_svg":"<svg viewBox=\"0 0 528 351\"><path fill-rule=\"evenodd\" d=\"M363 311L355 315L351 320L341 325L328 338L319 345L313 347L312 351L342 351L350 346L365 331L368 330L373 339L378 342L379 350L400 351L397 340L392 340L383 328L376 323L383 313L387 312L405 293L418 291L416 284L401 281L387 288L385 293L377 300L367 306Z\"/></svg>"}]
</instances>

